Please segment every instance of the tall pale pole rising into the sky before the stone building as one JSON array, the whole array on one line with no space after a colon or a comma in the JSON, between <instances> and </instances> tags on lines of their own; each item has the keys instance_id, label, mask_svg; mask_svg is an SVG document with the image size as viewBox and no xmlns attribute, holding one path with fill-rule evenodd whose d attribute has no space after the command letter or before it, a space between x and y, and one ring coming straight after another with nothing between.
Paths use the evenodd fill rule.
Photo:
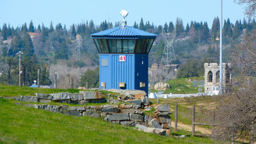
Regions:
<instances>
[{"instance_id":1,"label":"tall pale pole rising into the sky before the stone building","mask_svg":"<svg viewBox=\"0 0 256 144\"><path fill-rule=\"evenodd\" d=\"M220 23L220 43L219 43L219 90L222 94L222 0L221 0L221 23Z\"/></svg>"}]
</instances>

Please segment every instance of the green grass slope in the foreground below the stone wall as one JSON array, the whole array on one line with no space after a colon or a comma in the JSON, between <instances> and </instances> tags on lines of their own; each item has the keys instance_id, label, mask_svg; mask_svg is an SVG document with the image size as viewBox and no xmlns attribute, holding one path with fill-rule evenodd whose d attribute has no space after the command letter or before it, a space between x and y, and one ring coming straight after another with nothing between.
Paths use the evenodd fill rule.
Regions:
<instances>
[{"instance_id":1,"label":"green grass slope in the foreground below the stone wall","mask_svg":"<svg viewBox=\"0 0 256 144\"><path fill-rule=\"evenodd\" d=\"M16 105L0 99L0 144L214 144L207 138L158 136L105 122Z\"/></svg>"}]
</instances>

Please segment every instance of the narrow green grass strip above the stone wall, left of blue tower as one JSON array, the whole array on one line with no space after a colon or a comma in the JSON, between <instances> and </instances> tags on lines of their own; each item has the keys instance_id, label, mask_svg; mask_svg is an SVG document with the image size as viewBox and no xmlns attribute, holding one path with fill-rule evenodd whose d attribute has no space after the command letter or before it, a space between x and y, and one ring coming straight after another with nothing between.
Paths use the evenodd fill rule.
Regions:
<instances>
[{"instance_id":1,"label":"narrow green grass strip above the stone wall, left of blue tower","mask_svg":"<svg viewBox=\"0 0 256 144\"><path fill-rule=\"evenodd\" d=\"M16 97L16 96L35 96L35 93L79 93L79 89L59 89L59 88L31 88L28 86L8 86L6 84L0 83L0 97ZM116 95L117 93L109 92L109 91L101 91L103 95L110 93L111 95Z\"/></svg>"}]
</instances>

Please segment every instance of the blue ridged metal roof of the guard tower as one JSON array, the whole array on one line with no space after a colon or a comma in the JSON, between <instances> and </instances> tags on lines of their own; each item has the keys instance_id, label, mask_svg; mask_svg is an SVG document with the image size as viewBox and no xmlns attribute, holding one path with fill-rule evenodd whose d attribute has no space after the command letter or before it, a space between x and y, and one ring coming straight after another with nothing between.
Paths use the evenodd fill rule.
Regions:
<instances>
[{"instance_id":1,"label":"blue ridged metal roof of the guard tower","mask_svg":"<svg viewBox=\"0 0 256 144\"><path fill-rule=\"evenodd\" d=\"M96 39L155 39L157 37L154 33L142 31L127 25L93 33L91 36Z\"/></svg>"}]
</instances>

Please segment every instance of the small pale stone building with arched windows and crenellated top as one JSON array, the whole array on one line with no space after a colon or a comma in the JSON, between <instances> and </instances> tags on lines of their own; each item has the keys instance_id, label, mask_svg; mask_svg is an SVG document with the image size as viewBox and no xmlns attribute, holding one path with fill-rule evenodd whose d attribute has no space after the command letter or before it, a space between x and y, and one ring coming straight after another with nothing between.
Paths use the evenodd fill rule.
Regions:
<instances>
[{"instance_id":1,"label":"small pale stone building with arched windows and crenellated top","mask_svg":"<svg viewBox=\"0 0 256 144\"><path fill-rule=\"evenodd\" d=\"M219 94L219 64L205 63L204 64L204 93L206 95ZM229 63L222 63L222 84L223 92L228 91L228 84L232 82L231 65Z\"/></svg>"}]
</instances>

